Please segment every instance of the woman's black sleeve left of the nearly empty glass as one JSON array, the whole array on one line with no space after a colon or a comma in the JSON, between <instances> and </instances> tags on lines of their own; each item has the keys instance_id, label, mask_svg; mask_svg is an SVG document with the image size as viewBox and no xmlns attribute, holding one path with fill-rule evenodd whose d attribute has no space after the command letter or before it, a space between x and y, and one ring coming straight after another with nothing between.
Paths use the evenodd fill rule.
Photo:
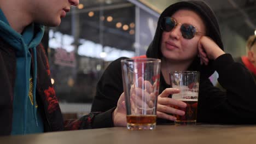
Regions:
<instances>
[{"instance_id":1,"label":"woman's black sleeve left of the nearly empty glass","mask_svg":"<svg viewBox=\"0 0 256 144\"><path fill-rule=\"evenodd\" d=\"M98 81L96 95L91 107L92 112L104 112L117 106L118 99L124 92L121 59L125 59L125 57L110 63Z\"/></svg>"}]
</instances>

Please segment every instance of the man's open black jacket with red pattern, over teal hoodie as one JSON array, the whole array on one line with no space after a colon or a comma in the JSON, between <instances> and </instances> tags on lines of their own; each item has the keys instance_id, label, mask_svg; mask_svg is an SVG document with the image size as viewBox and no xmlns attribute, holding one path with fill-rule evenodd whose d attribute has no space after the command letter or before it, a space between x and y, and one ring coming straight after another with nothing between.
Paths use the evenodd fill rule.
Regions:
<instances>
[{"instance_id":1,"label":"man's open black jacket with red pattern, over teal hoodie","mask_svg":"<svg viewBox=\"0 0 256 144\"><path fill-rule=\"evenodd\" d=\"M32 69L34 61L32 55ZM16 75L14 49L0 38L0 135L10 135L13 121L13 94ZM112 112L90 113L80 119L63 122L60 106L50 80L48 59L42 45L37 46L36 100L43 118L44 131L113 127ZM33 72L33 71L32 71Z\"/></svg>"}]
</instances>

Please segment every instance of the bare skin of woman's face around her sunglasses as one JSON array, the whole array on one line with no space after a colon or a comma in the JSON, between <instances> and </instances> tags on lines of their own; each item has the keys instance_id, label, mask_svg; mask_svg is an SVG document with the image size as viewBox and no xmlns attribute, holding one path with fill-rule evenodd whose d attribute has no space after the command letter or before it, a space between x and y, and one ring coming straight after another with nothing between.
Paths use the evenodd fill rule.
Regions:
<instances>
[{"instance_id":1,"label":"bare skin of woman's face around her sunglasses","mask_svg":"<svg viewBox=\"0 0 256 144\"><path fill-rule=\"evenodd\" d=\"M202 37L198 33L192 39L184 39L181 33L181 25L187 23L193 25L198 32L206 33L206 27L201 17L192 10L181 9L176 11L173 17L177 23L170 32L162 32L161 52L168 61L193 61L197 55L197 44Z\"/></svg>"}]
</instances>

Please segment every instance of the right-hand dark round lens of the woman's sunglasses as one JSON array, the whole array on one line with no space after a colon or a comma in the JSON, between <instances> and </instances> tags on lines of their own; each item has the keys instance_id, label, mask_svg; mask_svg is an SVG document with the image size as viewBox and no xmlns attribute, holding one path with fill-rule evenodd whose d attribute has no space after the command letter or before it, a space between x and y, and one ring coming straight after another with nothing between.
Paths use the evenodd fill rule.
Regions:
<instances>
[{"instance_id":1,"label":"right-hand dark round lens of the woman's sunglasses","mask_svg":"<svg viewBox=\"0 0 256 144\"><path fill-rule=\"evenodd\" d=\"M181 32L182 32L182 37L184 39L192 39L195 37L196 34L196 29L194 26L192 25L188 25L188 24L183 24L181 26Z\"/></svg>"}]
</instances>

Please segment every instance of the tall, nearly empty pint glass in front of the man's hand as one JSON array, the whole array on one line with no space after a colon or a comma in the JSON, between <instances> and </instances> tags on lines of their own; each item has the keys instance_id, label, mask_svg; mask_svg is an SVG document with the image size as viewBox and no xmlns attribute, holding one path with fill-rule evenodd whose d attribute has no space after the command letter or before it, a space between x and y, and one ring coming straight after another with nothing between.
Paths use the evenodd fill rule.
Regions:
<instances>
[{"instance_id":1,"label":"tall, nearly empty pint glass in front of the man's hand","mask_svg":"<svg viewBox=\"0 0 256 144\"><path fill-rule=\"evenodd\" d=\"M121 60L127 129L155 129L160 59Z\"/></svg>"}]
</instances>

